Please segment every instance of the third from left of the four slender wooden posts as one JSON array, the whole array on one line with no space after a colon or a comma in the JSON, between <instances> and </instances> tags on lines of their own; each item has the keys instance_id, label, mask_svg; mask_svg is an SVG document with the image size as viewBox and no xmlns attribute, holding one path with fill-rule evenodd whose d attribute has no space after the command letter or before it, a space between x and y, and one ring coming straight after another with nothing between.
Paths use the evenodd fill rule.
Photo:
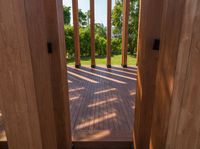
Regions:
<instances>
[{"instance_id":1,"label":"third from left of the four slender wooden posts","mask_svg":"<svg viewBox=\"0 0 200 149\"><path fill-rule=\"evenodd\" d=\"M107 0L107 68L111 68L111 13L112 0Z\"/></svg>"}]
</instances>

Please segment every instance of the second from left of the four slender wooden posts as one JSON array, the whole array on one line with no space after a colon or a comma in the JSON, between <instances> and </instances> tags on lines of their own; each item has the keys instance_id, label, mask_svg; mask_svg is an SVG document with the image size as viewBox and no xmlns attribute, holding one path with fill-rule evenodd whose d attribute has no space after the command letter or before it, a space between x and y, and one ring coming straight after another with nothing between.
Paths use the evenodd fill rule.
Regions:
<instances>
[{"instance_id":1,"label":"second from left of the four slender wooden posts","mask_svg":"<svg viewBox=\"0 0 200 149\"><path fill-rule=\"evenodd\" d=\"M95 68L95 16L94 0L90 0L91 67Z\"/></svg>"}]
</instances>

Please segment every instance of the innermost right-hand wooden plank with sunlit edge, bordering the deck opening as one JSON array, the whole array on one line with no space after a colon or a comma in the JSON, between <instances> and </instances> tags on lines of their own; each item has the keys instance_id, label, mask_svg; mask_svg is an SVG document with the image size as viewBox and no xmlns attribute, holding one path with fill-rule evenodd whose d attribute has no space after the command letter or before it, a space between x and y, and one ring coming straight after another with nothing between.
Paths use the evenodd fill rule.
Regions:
<instances>
[{"instance_id":1,"label":"innermost right-hand wooden plank with sunlit edge, bordering the deck opening","mask_svg":"<svg viewBox=\"0 0 200 149\"><path fill-rule=\"evenodd\" d=\"M136 149L149 148L159 51L153 50L160 38L162 0L141 0L138 37L138 76L134 125ZM162 40L162 39L161 39Z\"/></svg>"}]
</instances>

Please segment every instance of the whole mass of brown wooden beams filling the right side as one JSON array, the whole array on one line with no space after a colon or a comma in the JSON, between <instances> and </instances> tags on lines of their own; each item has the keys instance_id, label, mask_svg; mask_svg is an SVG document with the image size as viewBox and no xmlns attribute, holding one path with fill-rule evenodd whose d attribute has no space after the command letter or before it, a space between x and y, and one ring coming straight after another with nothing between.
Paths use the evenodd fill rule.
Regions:
<instances>
[{"instance_id":1,"label":"whole mass of brown wooden beams filling the right side","mask_svg":"<svg viewBox=\"0 0 200 149\"><path fill-rule=\"evenodd\" d=\"M200 148L200 2L142 0L140 11L135 148Z\"/></svg>"}]
</instances>

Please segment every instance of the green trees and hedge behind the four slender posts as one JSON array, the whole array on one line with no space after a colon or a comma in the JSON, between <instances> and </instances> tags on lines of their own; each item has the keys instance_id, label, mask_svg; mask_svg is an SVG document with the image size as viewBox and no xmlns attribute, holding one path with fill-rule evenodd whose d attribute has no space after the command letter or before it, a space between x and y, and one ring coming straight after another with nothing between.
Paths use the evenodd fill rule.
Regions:
<instances>
[{"instance_id":1,"label":"green trees and hedge behind the four slender posts","mask_svg":"<svg viewBox=\"0 0 200 149\"><path fill-rule=\"evenodd\" d=\"M73 26L70 25L71 15L70 7L64 6L64 22L65 22L65 40L66 40L66 54L69 59L74 57L74 36ZM129 17L129 38L128 38L128 52L135 55L137 47L138 34L138 14L139 2L138 0L130 0L130 17ZM90 11L83 12L79 9L79 25L80 25L80 47L81 56L90 57L91 55L91 37L90 37ZM123 16L123 0L117 0L116 5L112 11L112 55L121 54L122 49L122 16ZM97 57L105 57L106 55L106 27L103 24L95 24L95 50Z\"/></svg>"}]
</instances>

